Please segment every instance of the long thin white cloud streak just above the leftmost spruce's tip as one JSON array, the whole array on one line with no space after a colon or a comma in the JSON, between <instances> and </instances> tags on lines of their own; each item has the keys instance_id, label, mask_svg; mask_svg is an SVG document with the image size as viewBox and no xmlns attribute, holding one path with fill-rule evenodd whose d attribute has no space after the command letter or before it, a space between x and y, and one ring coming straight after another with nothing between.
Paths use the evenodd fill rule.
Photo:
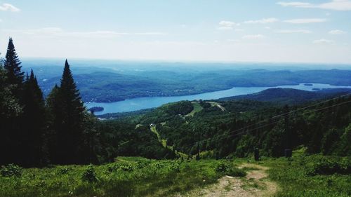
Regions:
<instances>
[{"instance_id":1,"label":"long thin white cloud streak just above the leftmost spruce's tip","mask_svg":"<svg viewBox=\"0 0 351 197\"><path fill-rule=\"evenodd\" d=\"M60 27L45 27L40 29L21 29L21 30L5 30L6 32L16 32L20 34L29 34L32 36L48 36L48 37L78 37L78 38L99 38L110 39L118 36L153 36L166 35L164 32L114 32L114 31L95 31L95 32L66 32Z\"/></svg>"}]
</instances>

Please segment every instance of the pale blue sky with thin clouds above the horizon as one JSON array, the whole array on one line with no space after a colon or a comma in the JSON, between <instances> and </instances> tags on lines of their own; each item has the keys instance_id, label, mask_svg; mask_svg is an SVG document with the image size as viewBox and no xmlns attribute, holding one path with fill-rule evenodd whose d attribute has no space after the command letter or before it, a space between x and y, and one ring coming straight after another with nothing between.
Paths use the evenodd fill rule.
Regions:
<instances>
[{"instance_id":1,"label":"pale blue sky with thin clouds above the horizon","mask_svg":"<svg viewBox=\"0 0 351 197\"><path fill-rule=\"evenodd\" d=\"M20 57L351 63L351 0L0 0Z\"/></svg>"}]
</instances>

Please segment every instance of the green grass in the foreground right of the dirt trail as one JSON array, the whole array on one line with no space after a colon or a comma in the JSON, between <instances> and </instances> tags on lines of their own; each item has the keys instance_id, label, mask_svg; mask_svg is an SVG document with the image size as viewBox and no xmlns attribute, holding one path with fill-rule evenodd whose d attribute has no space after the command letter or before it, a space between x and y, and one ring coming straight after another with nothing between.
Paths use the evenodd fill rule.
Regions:
<instances>
[{"instance_id":1,"label":"green grass in the foreground right of the dirt trail","mask_svg":"<svg viewBox=\"0 0 351 197\"><path fill-rule=\"evenodd\" d=\"M311 175L311 166L319 165L320 159L341 159L326 156L304 156L296 152L291 159L279 158L265 161L270 166L270 179L279 184L277 197L324 197L351 196L351 174Z\"/></svg>"}]
</instances>

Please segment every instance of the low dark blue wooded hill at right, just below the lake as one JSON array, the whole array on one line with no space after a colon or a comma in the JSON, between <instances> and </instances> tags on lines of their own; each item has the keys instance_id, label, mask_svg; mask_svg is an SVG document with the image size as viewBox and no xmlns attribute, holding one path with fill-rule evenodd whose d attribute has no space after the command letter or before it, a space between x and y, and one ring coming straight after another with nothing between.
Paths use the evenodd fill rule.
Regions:
<instances>
[{"instance_id":1,"label":"low dark blue wooded hill at right, just below the lake","mask_svg":"<svg viewBox=\"0 0 351 197\"><path fill-rule=\"evenodd\" d=\"M321 100L336 95L351 93L350 88L323 89L317 91L296 90L291 88L270 88L259 93L224 97L219 100L257 100L277 102L279 104L299 104L312 100Z\"/></svg>"}]
</instances>

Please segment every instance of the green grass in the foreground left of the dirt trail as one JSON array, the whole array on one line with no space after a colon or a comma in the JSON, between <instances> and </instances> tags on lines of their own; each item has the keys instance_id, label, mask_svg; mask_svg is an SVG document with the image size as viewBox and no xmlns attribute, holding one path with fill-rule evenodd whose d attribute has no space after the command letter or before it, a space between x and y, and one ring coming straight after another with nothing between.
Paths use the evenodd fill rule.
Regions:
<instances>
[{"instance_id":1,"label":"green grass in the foreground left of the dirt trail","mask_svg":"<svg viewBox=\"0 0 351 197\"><path fill-rule=\"evenodd\" d=\"M20 177L0 176L0 196L170 196L215 183L225 175L216 171L220 162L119 157L93 166L92 182L82 179L88 165L29 168Z\"/></svg>"}]
</instances>

